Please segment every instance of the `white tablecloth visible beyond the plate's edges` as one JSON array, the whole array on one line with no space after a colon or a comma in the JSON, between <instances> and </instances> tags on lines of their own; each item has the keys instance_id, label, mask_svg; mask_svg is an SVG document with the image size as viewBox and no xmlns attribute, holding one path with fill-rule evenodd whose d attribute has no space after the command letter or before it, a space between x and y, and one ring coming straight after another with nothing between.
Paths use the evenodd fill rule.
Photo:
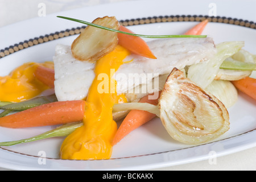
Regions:
<instances>
[{"instance_id":1,"label":"white tablecloth visible beyond the plate's edges","mask_svg":"<svg viewBox=\"0 0 256 182\"><path fill-rule=\"evenodd\" d=\"M56 13L82 6L114 3L129 0L0 0L0 27L38 16L38 5L47 6L46 13ZM217 158L216 163L208 160L166 167L156 170L256 170L256 147ZM9 170L0 168L1 171Z\"/></svg>"}]
</instances>

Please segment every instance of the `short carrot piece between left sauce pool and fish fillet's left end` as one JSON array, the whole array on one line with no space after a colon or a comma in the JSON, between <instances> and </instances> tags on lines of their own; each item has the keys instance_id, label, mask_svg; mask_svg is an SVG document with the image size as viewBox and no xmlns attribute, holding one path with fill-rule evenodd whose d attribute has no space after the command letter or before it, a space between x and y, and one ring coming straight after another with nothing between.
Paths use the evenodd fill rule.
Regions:
<instances>
[{"instance_id":1,"label":"short carrot piece between left sauce pool and fish fillet's left end","mask_svg":"<svg viewBox=\"0 0 256 182\"><path fill-rule=\"evenodd\" d=\"M39 66L38 68L36 68L35 77L38 78L39 81L43 82L43 84L49 86L49 88L54 88L54 69Z\"/></svg>"}]
</instances>

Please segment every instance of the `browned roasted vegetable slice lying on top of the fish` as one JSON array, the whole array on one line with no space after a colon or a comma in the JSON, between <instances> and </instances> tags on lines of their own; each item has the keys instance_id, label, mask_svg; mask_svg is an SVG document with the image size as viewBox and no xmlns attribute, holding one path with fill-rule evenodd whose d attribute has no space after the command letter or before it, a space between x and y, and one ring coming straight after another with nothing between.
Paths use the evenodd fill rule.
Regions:
<instances>
[{"instance_id":1,"label":"browned roasted vegetable slice lying on top of the fish","mask_svg":"<svg viewBox=\"0 0 256 182\"><path fill-rule=\"evenodd\" d=\"M93 23L115 30L120 28L120 24L114 16L97 18ZM117 35L117 32L88 26L73 42L72 54L77 60L95 62L114 50L118 44Z\"/></svg>"}]
</instances>

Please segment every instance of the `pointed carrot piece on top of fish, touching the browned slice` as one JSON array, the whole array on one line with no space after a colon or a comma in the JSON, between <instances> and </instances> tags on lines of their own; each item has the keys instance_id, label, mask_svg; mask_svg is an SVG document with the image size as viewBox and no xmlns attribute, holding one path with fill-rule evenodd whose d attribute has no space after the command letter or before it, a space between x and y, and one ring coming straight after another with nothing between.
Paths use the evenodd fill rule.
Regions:
<instances>
[{"instance_id":1,"label":"pointed carrot piece on top of fish, touching the browned slice","mask_svg":"<svg viewBox=\"0 0 256 182\"><path fill-rule=\"evenodd\" d=\"M124 26L121 26L119 30L134 34L132 31ZM118 44L125 47L130 52L136 55L156 59L150 48L147 46L147 43L142 38L139 38L137 36L118 33Z\"/></svg>"}]
</instances>

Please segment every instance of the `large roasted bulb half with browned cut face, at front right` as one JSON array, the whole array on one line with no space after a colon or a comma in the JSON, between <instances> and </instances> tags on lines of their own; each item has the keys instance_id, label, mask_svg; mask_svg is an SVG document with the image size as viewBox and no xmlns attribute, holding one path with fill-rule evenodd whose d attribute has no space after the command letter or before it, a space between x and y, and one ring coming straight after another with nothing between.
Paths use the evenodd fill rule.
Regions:
<instances>
[{"instance_id":1,"label":"large roasted bulb half with browned cut face, at front right","mask_svg":"<svg viewBox=\"0 0 256 182\"><path fill-rule=\"evenodd\" d=\"M224 104L176 68L164 85L159 109L168 133L182 143L206 143L229 130Z\"/></svg>"}]
</instances>

